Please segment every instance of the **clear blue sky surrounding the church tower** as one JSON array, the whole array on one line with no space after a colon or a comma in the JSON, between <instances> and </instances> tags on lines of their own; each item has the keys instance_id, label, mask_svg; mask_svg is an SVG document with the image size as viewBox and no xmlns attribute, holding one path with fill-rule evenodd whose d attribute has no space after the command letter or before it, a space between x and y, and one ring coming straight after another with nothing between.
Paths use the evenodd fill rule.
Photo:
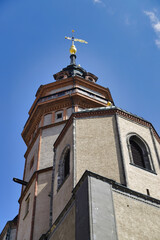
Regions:
<instances>
[{"instance_id":1,"label":"clear blue sky surrounding the church tower","mask_svg":"<svg viewBox=\"0 0 160 240\"><path fill-rule=\"evenodd\" d=\"M109 87L116 106L150 121L160 134L159 0L0 0L0 231L18 213L26 146L21 138L41 84L77 64Z\"/></svg>"}]
</instances>

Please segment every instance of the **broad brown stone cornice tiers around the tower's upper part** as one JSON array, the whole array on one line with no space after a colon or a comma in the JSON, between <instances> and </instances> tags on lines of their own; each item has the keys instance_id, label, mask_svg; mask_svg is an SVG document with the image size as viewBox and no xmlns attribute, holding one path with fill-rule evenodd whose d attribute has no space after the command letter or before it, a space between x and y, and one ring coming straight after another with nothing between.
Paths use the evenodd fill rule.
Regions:
<instances>
[{"instance_id":1,"label":"broad brown stone cornice tiers around the tower's upper part","mask_svg":"<svg viewBox=\"0 0 160 240\"><path fill-rule=\"evenodd\" d=\"M88 99L90 103L88 105L86 104L86 108L90 108L92 106L98 107L100 105L105 106L105 103L101 101L98 102L98 100L96 100L94 97L91 96L87 97L85 94L83 95L83 93L80 94L78 92L71 93L61 97L60 96L56 97L55 95L55 98L53 96L52 99L51 97L50 99L47 98L47 95L49 94L50 91L56 90L55 94L58 94L58 92L60 91L59 89L62 89L63 87L66 86L71 86L71 89L75 87L84 87L88 89L88 91L91 90L93 92L97 92L97 94L100 94L102 97L104 97L104 99L111 101L113 103L113 99L108 88L104 88L96 83L90 82L78 76L69 77L66 79L58 80L56 82L40 86L36 94L36 99L29 111L29 118L22 131L22 137L27 146L29 144L31 135L35 132L35 129L39 124L39 121L41 120L42 115L47 114L50 111L56 111L71 106L72 105L70 99L71 97L79 96L81 98L84 98L84 101ZM41 99L43 98L45 98L45 101L41 101ZM93 104L91 104L91 101L93 102Z\"/></svg>"}]
</instances>

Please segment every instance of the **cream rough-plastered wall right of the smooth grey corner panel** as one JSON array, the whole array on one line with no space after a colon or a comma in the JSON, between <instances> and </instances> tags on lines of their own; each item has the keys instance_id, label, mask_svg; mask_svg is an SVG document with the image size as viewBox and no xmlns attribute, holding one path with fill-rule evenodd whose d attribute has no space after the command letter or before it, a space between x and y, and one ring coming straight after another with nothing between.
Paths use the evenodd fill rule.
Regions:
<instances>
[{"instance_id":1,"label":"cream rough-plastered wall right of the smooth grey corner panel","mask_svg":"<svg viewBox=\"0 0 160 240\"><path fill-rule=\"evenodd\" d=\"M113 191L119 240L159 240L160 206Z\"/></svg>"}]
</instances>

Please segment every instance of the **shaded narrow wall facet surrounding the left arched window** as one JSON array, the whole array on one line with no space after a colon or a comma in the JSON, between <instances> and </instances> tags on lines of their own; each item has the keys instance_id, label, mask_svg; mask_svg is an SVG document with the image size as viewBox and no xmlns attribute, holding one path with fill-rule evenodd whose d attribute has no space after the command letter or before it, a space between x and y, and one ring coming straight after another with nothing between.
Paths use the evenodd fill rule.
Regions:
<instances>
[{"instance_id":1,"label":"shaded narrow wall facet surrounding the left arched window","mask_svg":"<svg viewBox=\"0 0 160 240\"><path fill-rule=\"evenodd\" d=\"M58 166L61 154L67 145L70 145L70 174L64 181L61 188L57 191ZM72 161L72 125L69 127L62 141L56 149L55 177L54 177L54 196L53 196L53 218L56 220L72 196L73 190L73 161Z\"/></svg>"}]
</instances>

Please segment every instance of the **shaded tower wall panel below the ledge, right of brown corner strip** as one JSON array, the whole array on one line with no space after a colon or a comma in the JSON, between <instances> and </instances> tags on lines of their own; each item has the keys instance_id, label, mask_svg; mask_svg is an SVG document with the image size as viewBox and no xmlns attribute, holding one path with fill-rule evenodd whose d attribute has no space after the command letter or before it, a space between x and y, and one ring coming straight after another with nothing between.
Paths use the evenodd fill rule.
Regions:
<instances>
[{"instance_id":1,"label":"shaded tower wall panel below the ledge, right of brown corner strip","mask_svg":"<svg viewBox=\"0 0 160 240\"><path fill-rule=\"evenodd\" d=\"M50 192L52 171L38 175L33 240L37 240L49 229Z\"/></svg>"}]
</instances>

